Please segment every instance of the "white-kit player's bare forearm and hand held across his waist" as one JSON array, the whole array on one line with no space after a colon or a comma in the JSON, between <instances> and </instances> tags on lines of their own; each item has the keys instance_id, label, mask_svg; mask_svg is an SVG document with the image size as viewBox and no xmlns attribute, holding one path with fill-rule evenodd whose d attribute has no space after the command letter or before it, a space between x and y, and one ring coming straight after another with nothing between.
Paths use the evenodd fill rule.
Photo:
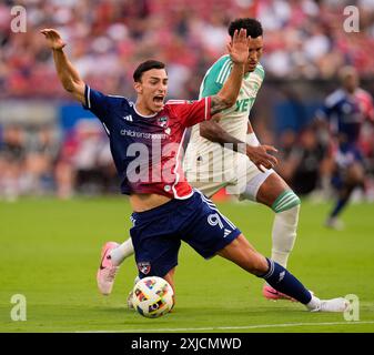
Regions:
<instances>
[{"instance_id":1,"label":"white-kit player's bare forearm and hand held across his waist","mask_svg":"<svg viewBox=\"0 0 374 355\"><path fill-rule=\"evenodd\" d=\"M277 164L276 158L269 153L277 152L274 146L254 146L246 144L241 140L232 136L214 121L205 121L200 123L200 135L210 140L211 142L216 142L224 148L247 155L260 171L264 171L263 168L271 169Z\"/></svg>"}]
</instances>

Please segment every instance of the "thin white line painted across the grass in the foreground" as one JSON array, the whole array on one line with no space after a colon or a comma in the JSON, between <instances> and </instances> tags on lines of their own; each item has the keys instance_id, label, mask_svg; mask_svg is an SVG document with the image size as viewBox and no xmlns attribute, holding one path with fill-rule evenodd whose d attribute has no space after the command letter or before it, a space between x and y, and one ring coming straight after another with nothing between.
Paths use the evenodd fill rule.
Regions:
<instances>
[{"instance_id":1,"label":"thin white line painted across the grass in the foreground","mask_svg":"<svg viewBox=\"0 0 374 355\"><path fill-rule=\"evenodd\" d=\"M200 331L244 331L244 329L261 329L261 328L286 328L293 326L327 326L327 325L358 325L374 324L374 321L363 322L321 322L321 323L284 323L284 324L257 324L243 326L206 326L196 328L139 328L123 331L87 331L77 333L162 333L162 332L200 332Z\"/></svg>"}]
</instances>

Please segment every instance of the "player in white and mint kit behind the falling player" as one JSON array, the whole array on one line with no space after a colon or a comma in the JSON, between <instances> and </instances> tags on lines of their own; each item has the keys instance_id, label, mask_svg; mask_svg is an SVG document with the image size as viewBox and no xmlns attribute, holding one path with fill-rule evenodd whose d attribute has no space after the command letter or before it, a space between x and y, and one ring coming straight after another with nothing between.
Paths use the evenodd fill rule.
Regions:
<instances>
[{"instance_id":1,"label":"player in white and mint kit behind the falling player","mask_svg":"<svg viewBox=\"0 0 374 355\"><path fill-rule=\"evenodd\" d=\"M208 197L226 187L240 200L250 200L271 207L275 213L272 258L286 267L296 237L300 199L272 169L276 159L270 152L276 150L259 143L249 121L251 108L264 79L264 69L260 63L263 30L255 19L237 19L229 26L231 38L234 31L240 29L246 29L251 41L237 101L221 113L224 120L212 120L192 128L184 156L184 170L191 185ZM230 55L221 57L208 70L201 84L200 97L216 94L229 78L231 68ZM121 245L113 244L110 254L112 262L119 266L132 253L133 246L129 239ZM105 277L108 287L102 293L111 292L114 276L115 272L111 270ZM263 295L270 300L289 298L267 284L263 287Z\"/></svg>"}]
</instances>

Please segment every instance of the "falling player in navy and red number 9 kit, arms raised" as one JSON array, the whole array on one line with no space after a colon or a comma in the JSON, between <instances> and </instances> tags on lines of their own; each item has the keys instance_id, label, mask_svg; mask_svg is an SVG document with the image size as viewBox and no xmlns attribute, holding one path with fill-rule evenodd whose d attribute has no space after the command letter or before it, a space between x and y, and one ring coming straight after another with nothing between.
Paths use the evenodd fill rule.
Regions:
<instances>
[{"instance_id":1,"label":"falling player in navy and red number 9 kit, arms raised","mask_svg":"<svg viewBox=\"0 0 374 355\"><path fill-rule=\"evenodd\" d=\"M53 29L41 32L52 49L63 88L93 112L107 131L121 191L130 196L133 209L130 234L139 277L161 276L174 287L178 253L184 241L205 258L220 255L266 280L310 311L347 310L345 298L321 301L283 266L256 252L241 231L184 179L180 162L185 129L210 120L236 101L249 55L245 30L235 31L228 44L233 65L220 92L199 101L166 103L168 75L163 63L151 60L137 68L133 103L87 85L63 52L65 43L60 34ZM102 286L117 267L109 251L107 245L102 253L101 270L107 277Z\"/></svg>"}]
</instances>

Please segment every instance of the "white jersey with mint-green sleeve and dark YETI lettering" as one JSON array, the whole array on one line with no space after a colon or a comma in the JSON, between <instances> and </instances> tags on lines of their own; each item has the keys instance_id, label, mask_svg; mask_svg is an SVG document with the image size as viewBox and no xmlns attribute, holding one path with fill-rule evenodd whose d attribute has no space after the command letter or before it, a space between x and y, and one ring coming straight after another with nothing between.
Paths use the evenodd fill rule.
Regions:
<instances>
[{"instance_id":1,"label":"white jersey with mint-green sleeve and dark YETI lettering","mask_svg":"<svg viewBox=\"0 0 374 355\"><path fill-rule=\"evenodd\" d=\"M200 98L216 94L231 72L229 54L221 57L206 72L200 87ZM236 103L221 112L219 124L231 135L246 142L250 111L264 79L264 69L259 63L253 72L243 78ZM184 156L188 180L228 181L236 174L235 166L244 163L246 156L200 135L200 124L192 128L190 143Z\"/></svg>"}]
</instances>

